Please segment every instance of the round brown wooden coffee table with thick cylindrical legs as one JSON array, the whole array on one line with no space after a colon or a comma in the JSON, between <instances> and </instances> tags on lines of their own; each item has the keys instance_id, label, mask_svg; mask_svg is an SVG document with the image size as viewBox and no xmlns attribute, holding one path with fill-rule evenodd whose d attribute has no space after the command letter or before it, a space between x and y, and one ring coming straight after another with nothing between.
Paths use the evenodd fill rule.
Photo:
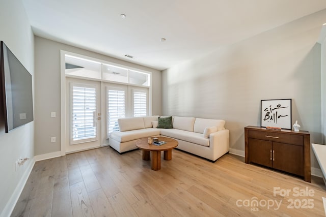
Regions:
<instances>
[{"instance_id":1,"label":"round brown wooden coffee table with thick cylindrical legs","mask_svg":"<svg viewBox=\"0 0 326 217\"><path fill-rule=\"evenodd\" d=\"M143 150L143 160L149 161L152 156L152 170L161 169L161 151L164 151L164 160L172 160L172 149L178 146L178 141L168 137L157 137L158 141L165 141L164 145L148 144L148 138L136 142L136 146Z\"/></svg>"}]
</instances>

